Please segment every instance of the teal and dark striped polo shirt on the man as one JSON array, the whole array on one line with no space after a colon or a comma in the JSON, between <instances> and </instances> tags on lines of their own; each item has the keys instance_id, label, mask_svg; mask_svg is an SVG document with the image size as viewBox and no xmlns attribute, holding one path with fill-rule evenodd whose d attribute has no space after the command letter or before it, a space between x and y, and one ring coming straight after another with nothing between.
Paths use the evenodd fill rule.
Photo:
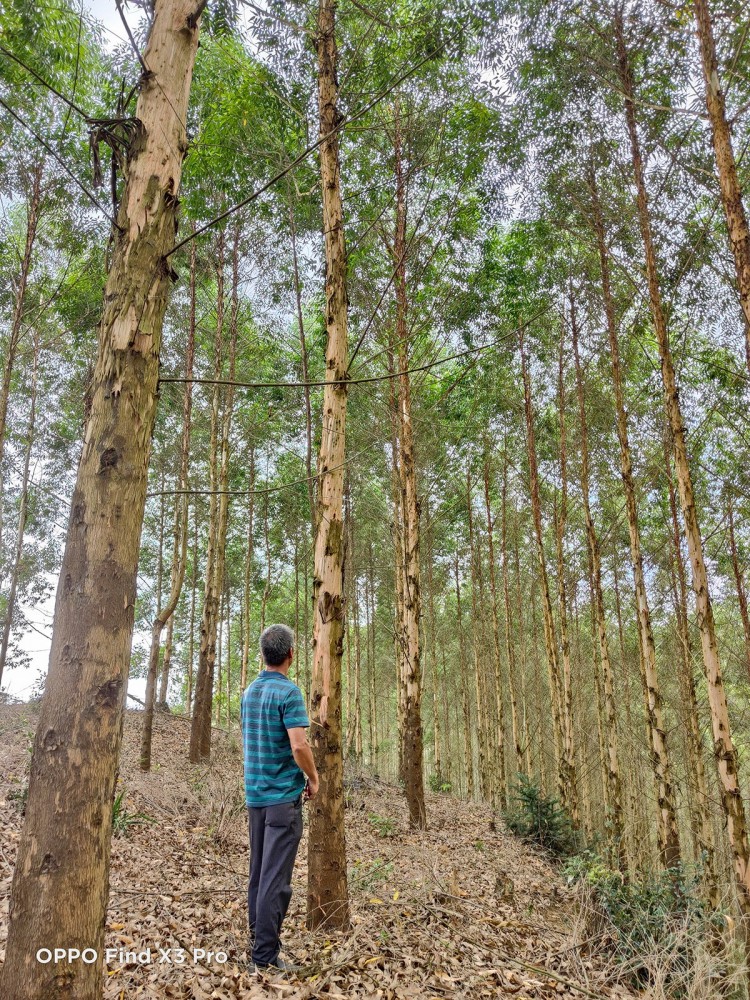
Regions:
<instances>
[{"instance_id":1,"label":"teal and dark striped polo shirt on the man","mask_svg":"<svg viewBox=\"0 0 750 1000\"><path fill-rule=\"evenodd\" d=\"M293 802L305 787L287 729L309 726L302 692L278 670L264 670L242 696L245 799L249 806Z\"/></svg>"}]
</instances>

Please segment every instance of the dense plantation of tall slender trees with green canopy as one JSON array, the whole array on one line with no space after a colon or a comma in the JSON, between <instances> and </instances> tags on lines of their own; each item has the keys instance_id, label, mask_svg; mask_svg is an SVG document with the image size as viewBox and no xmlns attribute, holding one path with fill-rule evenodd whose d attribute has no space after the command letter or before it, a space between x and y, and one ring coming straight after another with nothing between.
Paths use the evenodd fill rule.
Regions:
<instances>
[{"instance_id":1,"label":"dense plantation of tall slender trees with green canopy","mask_svg":"<svg viewBox=\"0 0 750 1000\"><path fill-rule=\"evenodd\" d=\"M0 6L0 683L56 591L0 993L101 996L34 955L101 953L125 709L205 764L286 622L310 929L364 774L417 835L547 810L695 903L719 972L659 996L744 996L746 5L122 15Z\"/></svg>"}]
</instances>

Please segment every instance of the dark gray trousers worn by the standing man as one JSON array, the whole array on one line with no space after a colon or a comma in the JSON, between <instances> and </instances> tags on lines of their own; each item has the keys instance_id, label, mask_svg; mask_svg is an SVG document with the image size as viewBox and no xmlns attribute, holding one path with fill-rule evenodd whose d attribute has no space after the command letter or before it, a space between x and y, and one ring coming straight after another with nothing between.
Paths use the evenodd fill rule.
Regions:
<instances>
[{"instance_id":1,"label":"dark gray trousers worn by the standing man","mask_svg":"<svg viewBox=\"0 0 750 1000\"><path fill-rule=\"evenodd\" d=\"M292 898L292 871L302 836L302 796L274 806L250 806L250 882L247 914L255 937L253 961L272 965Z\"/></svg>"}]
</instances>

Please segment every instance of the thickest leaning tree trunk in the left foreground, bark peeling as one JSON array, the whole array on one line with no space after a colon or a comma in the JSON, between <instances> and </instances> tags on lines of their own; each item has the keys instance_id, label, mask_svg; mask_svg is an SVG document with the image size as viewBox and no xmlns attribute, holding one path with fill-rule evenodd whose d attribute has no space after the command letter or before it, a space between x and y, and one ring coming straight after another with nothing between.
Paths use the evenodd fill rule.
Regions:
<instances>
[{"instance_id":1,"label":"thickest leaning tree trunk in the left foreground, bark peeling","mask_svg":"<svg viewBox=\"0 0 750 1000\"><path fill-rule=\"evenodd\" d=\"M0 993L102 992L117 759L138 550L199 17L156 0L125 166L99 351L55 606ZM190 19L190 20L188 20ZM93 948L61 976L39 948Z\"/></svg>"}]
</instances>

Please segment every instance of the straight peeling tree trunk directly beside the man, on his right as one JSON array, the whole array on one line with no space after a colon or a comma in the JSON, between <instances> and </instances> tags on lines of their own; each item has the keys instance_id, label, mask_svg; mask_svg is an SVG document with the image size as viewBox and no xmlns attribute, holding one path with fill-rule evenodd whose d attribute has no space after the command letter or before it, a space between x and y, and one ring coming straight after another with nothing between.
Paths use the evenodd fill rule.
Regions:
<instances>
[{"instance_id":1,"label":"straight peeling tree trunk directly beside the man, on his right","mask_svg":"<svg viewBox=\"0 0 750 1000\"><path fill-rule=\"evenodd\" d=\"M342 503L346 455L348 316L346 246L341 200L336 79L335 0L318 8L318 100L326 255L326 386L318 462L318 512L313 573L312 746L320 792L312 800L308 840L307 923L349 926L344 837L344 762L341 733L341 654L344 638Z\"/></svg>"}]
</instances>

